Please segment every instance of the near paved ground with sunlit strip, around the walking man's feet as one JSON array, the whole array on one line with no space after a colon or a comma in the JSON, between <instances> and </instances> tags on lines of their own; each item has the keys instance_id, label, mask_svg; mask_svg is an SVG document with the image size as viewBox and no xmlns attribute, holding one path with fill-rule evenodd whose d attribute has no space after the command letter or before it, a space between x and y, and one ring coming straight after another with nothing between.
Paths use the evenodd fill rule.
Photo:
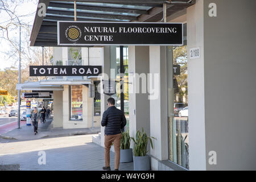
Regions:
<instances>
[{"instance_id":1,"label":"near paved ground with sunlit strip, around the walking man's feet","mask_svg":"<svg viewBox=\"0 0 256 182\"><path fill-rule=\"evenodd\" d=\"M94 134L96 135L96 134ZM46 154L46 164L39 164L39 151ZM41 154L42 154L41 153ZM104 147L92 143L92 135L9 140L0 143L0 165L19 164L20 170L102 170ZM114 152L110 151L114 169ZM119 170L133 170L133 163L121 163Z\"/></svg>"}]
</instances>

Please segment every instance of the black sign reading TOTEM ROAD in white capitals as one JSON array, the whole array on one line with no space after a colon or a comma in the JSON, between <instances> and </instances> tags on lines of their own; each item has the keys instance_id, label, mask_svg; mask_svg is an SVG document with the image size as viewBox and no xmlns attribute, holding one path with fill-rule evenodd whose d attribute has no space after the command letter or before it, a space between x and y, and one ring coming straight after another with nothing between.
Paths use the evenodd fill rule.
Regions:
<instances>
[{"instance_id":1,"label":"black sign reading TOTEM ROAD in white capitals","mask_svg":"<svg viewBox=\"0 0 256 182\"><path fill-rule=\"evenodd\" d=\"M30 76L98 76L101 66L30 66Z\"/></svg>"}]
</instances>

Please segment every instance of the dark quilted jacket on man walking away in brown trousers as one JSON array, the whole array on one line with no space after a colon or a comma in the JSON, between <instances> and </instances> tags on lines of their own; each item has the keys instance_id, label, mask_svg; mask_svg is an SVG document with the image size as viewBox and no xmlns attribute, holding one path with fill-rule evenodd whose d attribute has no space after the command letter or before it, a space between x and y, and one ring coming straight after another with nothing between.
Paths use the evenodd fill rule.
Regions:
<instances>
[{"instance_id":1,"label":"dark quilted jacket on man walking away in brown trousers","mask_svg":"<svg viewBox=\"0 0 256 182\"><path fill-rule=\"evenodd\" d=\"M105 126L105 135L116 135L126 125L125 114L115 106L104 111L101 126Z\"/></svg>"}]
</instances>

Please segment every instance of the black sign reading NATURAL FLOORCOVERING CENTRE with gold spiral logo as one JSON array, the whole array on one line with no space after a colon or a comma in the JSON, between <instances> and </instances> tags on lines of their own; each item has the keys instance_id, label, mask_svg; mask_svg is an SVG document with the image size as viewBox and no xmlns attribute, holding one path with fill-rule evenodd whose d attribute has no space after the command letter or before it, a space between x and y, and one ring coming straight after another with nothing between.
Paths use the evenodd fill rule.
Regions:
<instances>
[{"instance_id":1,"label":"black sign reading NATURAL FLOORCOVERING CENTRE with gold spiral logo","mask_svg":"<svg viewBox=\"0 0 256 182\"><path fill-rule=\"evenodd\" d=\"M59 46L182 46L183 23L57 22Z\"/></svg>"}]
</instances>

